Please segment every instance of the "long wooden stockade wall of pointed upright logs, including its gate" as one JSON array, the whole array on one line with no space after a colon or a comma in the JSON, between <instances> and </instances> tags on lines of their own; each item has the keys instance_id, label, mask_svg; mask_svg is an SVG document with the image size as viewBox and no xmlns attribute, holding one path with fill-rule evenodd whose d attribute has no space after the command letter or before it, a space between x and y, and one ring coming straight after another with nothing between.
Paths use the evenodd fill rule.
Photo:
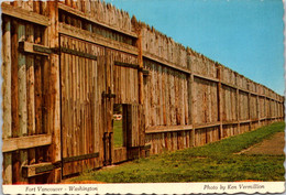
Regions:
<instances>
[{"instance_id":1,"label":"long wooden stockade wall of pointed upright logs, including its gate","mask_svg":"<svg viewBox=\"0 0 286 195\"><path fill-rule=\"evenodd\" d=\"M111 4L1 8L4 184L55 183L284 119L284 97ZM122 148L113 104L123 105Z\"/></svg>"}]
</instances>

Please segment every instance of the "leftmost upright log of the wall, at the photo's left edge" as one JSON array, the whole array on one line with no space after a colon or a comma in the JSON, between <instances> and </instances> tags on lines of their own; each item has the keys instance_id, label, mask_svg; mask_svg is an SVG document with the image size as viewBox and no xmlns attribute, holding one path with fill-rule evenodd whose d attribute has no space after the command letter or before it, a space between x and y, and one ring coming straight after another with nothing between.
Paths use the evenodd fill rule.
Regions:
<instances>
[{"instance_id":1,"label":"leftmost upright log of the wall, at the photo's left edge","mask_svg":"<svg viewBox=\"0 0 286 195\"><path fill-rule=\"evenodd\" d=\"M3 139L12 137L11 112L11 21L3 18L2 34L2 108L3 108ZM3 184L12 184L12 154L3 153Z\"/></svg>"}]
</instances>

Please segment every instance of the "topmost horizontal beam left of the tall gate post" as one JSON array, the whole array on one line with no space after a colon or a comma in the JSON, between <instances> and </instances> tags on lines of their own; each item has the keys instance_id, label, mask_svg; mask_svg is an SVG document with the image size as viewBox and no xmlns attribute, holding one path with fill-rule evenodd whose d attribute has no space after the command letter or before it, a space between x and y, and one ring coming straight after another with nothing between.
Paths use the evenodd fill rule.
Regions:
<instances>
[{"instance_id":1,"label":"topmost horizontal beam left of the tall gate post","mask_svg":"<svg viewBox=\"0 0 286 195\"><path fill-rule=\"evenodd\" d=\"M12 7L6 2L1 4L1 8L3 14L14 17L20 20L25 20L35 24L44 25L44 26L51 25L50 19L38 13L26 11L18 7Z\"/></svg>"}]
</instances>

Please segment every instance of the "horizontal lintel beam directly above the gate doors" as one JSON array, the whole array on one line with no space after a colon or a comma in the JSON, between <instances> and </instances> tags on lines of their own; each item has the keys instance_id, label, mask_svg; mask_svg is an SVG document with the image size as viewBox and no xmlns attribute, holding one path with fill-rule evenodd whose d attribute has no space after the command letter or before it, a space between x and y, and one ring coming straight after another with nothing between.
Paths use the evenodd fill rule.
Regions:
<instances>
[{"instance_id":1,"label":"horizontal lintel beam directly above the gate doors","mask_svg":"<svg viewBox=\"0 0 286 195\"><path fill-rule=\"evenodd\" d=\"M118 42L114 40L110 40L110 39L103 37L101 35L98 35L98 34L91 33L89 31L85 31L82 29L78 29L78 28L75 28L73 25L68 25L65 23L58 24L58 32L61 34L80 39L82 41L107 46L107 47L114 48L118 51L122 51L122 52L125 52L129 54L138 55L138 53L139 53L138 47L135 47L135 46L132 46L132 45L129 45L125 43L121 43L121 42Z\"/></svg>"}]
</instances>

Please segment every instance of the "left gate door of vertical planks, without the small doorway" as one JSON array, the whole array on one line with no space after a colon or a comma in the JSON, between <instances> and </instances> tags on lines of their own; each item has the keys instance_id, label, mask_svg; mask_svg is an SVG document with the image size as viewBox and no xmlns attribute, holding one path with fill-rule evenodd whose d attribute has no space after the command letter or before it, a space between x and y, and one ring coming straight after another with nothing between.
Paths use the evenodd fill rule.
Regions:
<instances>
[{"instance_id":1,"label":"left gate door of vertical planks, without the small doorway","mask_svg":"<svg viewBox=\"0 0 286 195\"><path fill-rule=\"evenodd\" d=\"M102 165L105 48L61 35L62 173Z\"/></svg>"}]
</instances>

